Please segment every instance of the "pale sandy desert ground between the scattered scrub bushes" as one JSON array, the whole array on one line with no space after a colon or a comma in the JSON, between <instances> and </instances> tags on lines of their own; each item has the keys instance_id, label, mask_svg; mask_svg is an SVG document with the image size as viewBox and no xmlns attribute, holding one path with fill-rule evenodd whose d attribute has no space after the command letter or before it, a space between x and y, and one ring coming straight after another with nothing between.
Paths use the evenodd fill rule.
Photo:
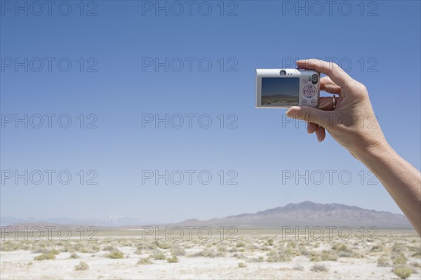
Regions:
<instances>
[{"instance_id":1,"label":"pale sandy desert ground between the scattered scrub bushes","mask_svg":"<svg viewBox=\"0 0 421 280\"><path fill-rule=\"evenodd\" d=\"M272 237L272 238L271 238ZM273 245L267 245L269 239ZM12 241L19 242L19 241ZM40 241L32 241L40 242ZM77 242L77 241L76 241ZM166 242L166 244L164 244ZM2 241L0 253L1 279L399 279L392 269L393 255L403 254L407 258L407 264L413 267L413 274L408 279L420 279L420 256L415 254L417 246L420 246L420 238L413 236L395 236L373 242L347 241L349 251L354 256L338 257L337 260L311 260L308 252L314 254L328 251L331 254L340 252L332 251L332 244L340 244L335 241L319 242L308 241L284 242L278 236L262 236L260 234L241 236L235 244L227 241L184 241L175 242L148 241L138 239L123 239L119 237L107 237L99 239L95 244L100 248L96 252L81 253L72 248L64 249L62 241L48 241L42 245L44 251L55 248L60 251L55 255L55 260L34 260L41 255L42 250L27 241L31 250L18 248L11 250L7 246L8 241ZM239 243L240 242L240 243ZM399 243L399 248L394 244ZM141 245L139 245L141 244ZM158 244L158 246L155 246ZM269 262L268 252L273 250L285 250L295 244L293 249L286 251L290 254L290 260ZM379 245L379 250L373 246ZM164 246L166 245L166 246ZM106 246L121 251L124 258L107 258L109 251ZM141 248L139 247L141 246ZM149 247L148 247L149 246ZM162 247L162 248L161 248ZM224 248L223 250L221 249ZM139 249L140 248L140 249ZM171 257L172 248L183 248L178 255L178 262L168 260L156 260L153 255L161 252L166 258ZM226 249L225 249L226 248ZM298 253L306 248L306 255ZM409 249L408 249L409 248ZM10 250L10 251L4 251ZM217 252L215 256L201 256L198 253L206 250ZM218 253L218 250L221 253ZM36 253L34 251L37 251ZM78 258L70 258L72 253ZM292 253L291 253L292 252ZM336 252L336 253L335 253ZM377 265L380 256L391 257L387 267ZM258 258L260 257L260 260ZM141 265L141 258L149 258L151 264ZM88 269L78 271L75 266L79 262L86 262ZM245 267L239 267L239 263ZM412 263L412 265L410 265ZM324 265L327 271L314 272L314 265Z\"/></svg>"}]
</instances>

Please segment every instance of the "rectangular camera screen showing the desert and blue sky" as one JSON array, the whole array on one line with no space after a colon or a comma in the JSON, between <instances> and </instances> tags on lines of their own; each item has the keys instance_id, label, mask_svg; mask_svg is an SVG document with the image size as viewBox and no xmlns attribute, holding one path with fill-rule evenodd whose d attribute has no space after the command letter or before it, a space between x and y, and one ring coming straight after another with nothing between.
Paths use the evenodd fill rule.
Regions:
<instances>
[{"instance_id":1,"label":"rectangular camera screen showing the desert and blue sky","mask_svg":"<svg viewBox=\"0 0 421 280\"><path fill-rule=\"evenodd\" d=\"M300 78L262 78L262 106L298 105Z\"/></svg>"}]
</instances>

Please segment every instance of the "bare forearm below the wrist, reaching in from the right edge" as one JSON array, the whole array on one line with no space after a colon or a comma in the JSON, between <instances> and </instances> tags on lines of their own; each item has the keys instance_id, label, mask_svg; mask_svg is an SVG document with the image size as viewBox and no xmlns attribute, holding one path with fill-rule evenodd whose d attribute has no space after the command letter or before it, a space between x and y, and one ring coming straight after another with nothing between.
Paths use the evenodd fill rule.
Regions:
<instances>
[{"instance_id":1,"label":"bare forearm below the wrist, reaching in from the right edge","mask_svg":"<svg viewBox=\"0 0 421 280\"><path fill-rule=\"evenodd\" d=\"M375 173L406 218L421 236L421 173L383 143L377 150L356 154Z\"/></svg>"}]
</instances>

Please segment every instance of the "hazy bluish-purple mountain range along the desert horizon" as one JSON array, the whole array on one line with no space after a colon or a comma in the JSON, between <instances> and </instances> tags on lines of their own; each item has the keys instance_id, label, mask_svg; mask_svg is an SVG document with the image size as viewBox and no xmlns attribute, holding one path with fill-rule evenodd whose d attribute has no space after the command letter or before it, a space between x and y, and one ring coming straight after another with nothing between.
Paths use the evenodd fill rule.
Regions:
<instances>
[{"instance_id":1,"label":"hazy bluish-purple mountain range along the desert horizon","mask_svg":"<svg viewBox=\"0 0 421 280\"><path fill-rule=\"evenodd\" d=\"M163 225L160 222L142 221L134 218L109 216L97 219L69 219L54 218L39 220L36 218L11 218L1 217L0 225L22 224L62 224L62 225L92 225L98 227L141 227L143 225ZM225 218L213 218L210 220L190 219L183 222L167 224L179 226L207 225L208 227L236 226L243 228L280 228L283 226L348 226L370 227L387 229L412 228L404 215L385 211L375 211L347 206L344 204L317 204L304 201L298 204L288 204L257 213L244 213Z\"/></svg>"}]
</instances>

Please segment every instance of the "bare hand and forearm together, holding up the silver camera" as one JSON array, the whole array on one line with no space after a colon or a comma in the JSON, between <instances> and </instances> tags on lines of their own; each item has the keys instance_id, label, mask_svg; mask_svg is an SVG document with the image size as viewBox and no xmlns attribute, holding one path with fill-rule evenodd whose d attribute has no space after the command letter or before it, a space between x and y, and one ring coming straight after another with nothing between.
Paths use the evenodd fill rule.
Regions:
<instances>
[{"instance_id":1,"label":"bare hand and forearm together, holding up the silver camera","mask_svg":"<svg viewBox=\"0 0 421 280\"><path fill-rule=\"evenodd\" d=\"M300 60L298 67L314 69L321 78L321 91L338 94L320 98L319 108L293 106L286 114L307 121L307 131L319 142L326 130L356 159L373 171L406 218L421 236L421 173L396 154L377 123L366 87L352 79L335 63Z\"/></svg>"}]
</instances>

